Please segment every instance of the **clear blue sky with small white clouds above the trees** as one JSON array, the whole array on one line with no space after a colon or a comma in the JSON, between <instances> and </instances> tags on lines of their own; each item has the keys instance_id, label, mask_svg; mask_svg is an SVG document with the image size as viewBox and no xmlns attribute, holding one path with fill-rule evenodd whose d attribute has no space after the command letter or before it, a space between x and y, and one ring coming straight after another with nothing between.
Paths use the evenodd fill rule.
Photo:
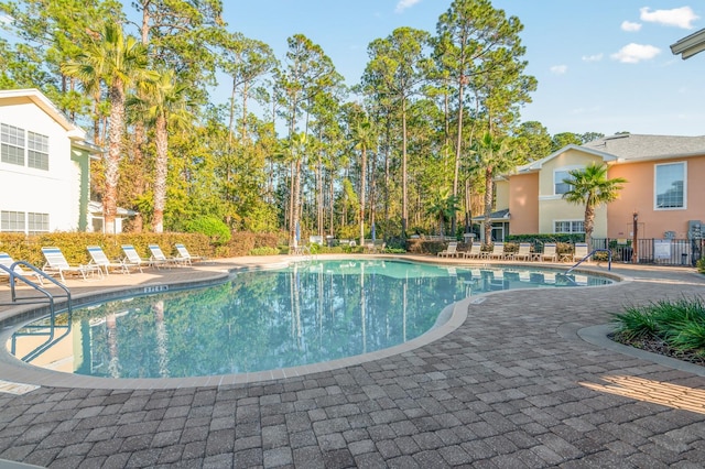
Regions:
<instances>
[{"instance_id":1,"label":"clear blue sky with small white clouds above the trees","mask_svg":"<svg viewBox=\"0 0 705 469\"><path fill-rule=\"evenodd\" d=\"M705 53L683 61L670 50L705 28L705 7L690 1L494 0L495 8L524 25L525 72L539 81L522 120L539 121L551 134L705 135ZM451 0L224 4L230 31L268 43L280 59L286 39L304 34L323 47L348 84L355 84L371 41L400 26L435 34Z\"/></svg>"}]
</instances>

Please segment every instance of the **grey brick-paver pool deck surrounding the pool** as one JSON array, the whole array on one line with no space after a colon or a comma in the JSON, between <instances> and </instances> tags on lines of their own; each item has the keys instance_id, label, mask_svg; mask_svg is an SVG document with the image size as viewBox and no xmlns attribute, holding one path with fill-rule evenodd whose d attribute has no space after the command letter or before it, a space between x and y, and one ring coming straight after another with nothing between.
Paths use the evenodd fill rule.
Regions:
<instances>
[{"instance_id":1,"label":"grey brick-paver pool deck surrounding the pool","mask_svg":"<svg viewBox=\"0 0 705 469\"><path fill-rule=\"evenodd\" d=\"M69 284L80 297L213 279L272 259ZM705 276L612 272L627 281L486 295L430 343L295 378L0 392L0 458L52 468L702 468L703 368L627 355L599 326L626 305L703 295ZM0 301L8 291L0 285ZM17 310L0 306L0 319Z\"/></svg>"}]
</instances>

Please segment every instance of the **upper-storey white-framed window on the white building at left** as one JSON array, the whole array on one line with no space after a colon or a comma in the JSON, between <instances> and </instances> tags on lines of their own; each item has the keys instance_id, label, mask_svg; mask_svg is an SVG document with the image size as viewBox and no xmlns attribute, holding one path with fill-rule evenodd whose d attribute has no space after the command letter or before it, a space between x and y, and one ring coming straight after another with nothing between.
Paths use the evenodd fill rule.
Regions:
<instances>
[{"instance_id":1,"label":"upper-storey white-framed window on the white building at left","mask_svg":"<svg viewBox=\"0 0 705 469\"><path fill-rule=\"evenodd\" d=\"M24 166L26 149L26 166L48 171L48 137L28 131L25 141L24 134L24 129L0 126L0 161Z\"/></svg>"}]
</instances>

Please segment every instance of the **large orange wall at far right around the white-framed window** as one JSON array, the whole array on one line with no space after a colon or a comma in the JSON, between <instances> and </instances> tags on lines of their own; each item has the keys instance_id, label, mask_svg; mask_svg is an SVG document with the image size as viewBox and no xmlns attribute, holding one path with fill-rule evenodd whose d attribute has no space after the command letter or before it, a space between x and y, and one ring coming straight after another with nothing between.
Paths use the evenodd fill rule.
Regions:
<instances>
[{"instance_id":1,"label":"large orange wall at far right around the white-framed window","mask_svg":"<svg viewBox=\"0 0 705 469\"><path fill-rule=\"evenodd\" d=\"M654 208L655 165L686 162L686 208ZM639 238L665 238L673 231L675 238L687 238L688 220L705 222L705 155L687 159L652 160L638 163L612 165L609 177L628 181L618 200L609 205L610 238L631 238L633 212L639 215Z\"/></svg>"}]
</instances>

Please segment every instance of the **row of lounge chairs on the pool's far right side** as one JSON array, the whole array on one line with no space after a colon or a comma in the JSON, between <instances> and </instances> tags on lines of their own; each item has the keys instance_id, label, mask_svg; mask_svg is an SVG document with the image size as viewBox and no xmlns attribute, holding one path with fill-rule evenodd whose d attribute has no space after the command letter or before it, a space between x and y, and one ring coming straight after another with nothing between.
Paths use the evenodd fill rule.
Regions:
<instances>
[{"instance_id":1,"label":"row of lounge chairs on the pool's far right side","mask_svg":"<svg viewBox=\"0 0 705 469\"><path fill-rule=\"evenodd\" d=\"M576 242L573 253L560 254L556 251L556 243L546 242L543 246L543 252L532 252L530 242L520 242L519 250L516 252L505 252L503 242L495 242L491 251L482 251L479 242L473 243L469 251L458 251L458 243L452 241L448 247L438 252L442 258L465 258L465 259L497 259L509 261L552 261L552 262L576 262L588 255L587 243Z\"/></svg>"}]
</instances>

